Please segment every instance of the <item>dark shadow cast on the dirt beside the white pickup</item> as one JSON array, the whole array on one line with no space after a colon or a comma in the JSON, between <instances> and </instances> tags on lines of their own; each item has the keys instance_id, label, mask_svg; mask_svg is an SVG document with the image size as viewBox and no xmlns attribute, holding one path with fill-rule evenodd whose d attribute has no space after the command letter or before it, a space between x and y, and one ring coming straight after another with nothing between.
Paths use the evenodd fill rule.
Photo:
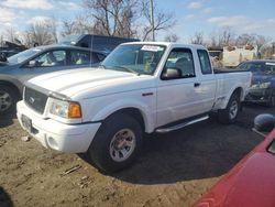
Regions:
<instances>
[{"instance_id":1,"label":"dark shadow cast on the dirt beside the white pickup","mask_svg":"<svg viewBox=\"0 0 275 207\"><path fill-rule=\"evenodd\" d=\"M112 176L145 185L221 176L263 140L251 130L254 117L274 111L245 106L235 124L220 124L212 118L172 133L150 135L138 161Z\"/></svg>"}]
</instances>

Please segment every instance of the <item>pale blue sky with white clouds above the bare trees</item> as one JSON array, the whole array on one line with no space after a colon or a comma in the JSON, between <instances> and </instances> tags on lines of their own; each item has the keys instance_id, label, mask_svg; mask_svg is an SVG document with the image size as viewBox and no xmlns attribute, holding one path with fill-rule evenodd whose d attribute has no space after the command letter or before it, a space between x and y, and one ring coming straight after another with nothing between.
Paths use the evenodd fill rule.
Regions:
<instances>
[{"instance_id":1,"label":"pale blue sky with white clouds above the bare trees","mask_svg":"<svg viewBox=\"0 0 275 207\"><path fill-rule=\"evenodd\" d=\"M177 23L169 31L186 41L195 32L210 33L229 26L237 34L257 33L275 39L274 0L155 0L158 10L173 12ZM23 31L28 24L55 18L74 19L81 0L0 0L0 33L7 26ZM163 40L158 33L156 39Z\"/></svg>"}]
</instances>

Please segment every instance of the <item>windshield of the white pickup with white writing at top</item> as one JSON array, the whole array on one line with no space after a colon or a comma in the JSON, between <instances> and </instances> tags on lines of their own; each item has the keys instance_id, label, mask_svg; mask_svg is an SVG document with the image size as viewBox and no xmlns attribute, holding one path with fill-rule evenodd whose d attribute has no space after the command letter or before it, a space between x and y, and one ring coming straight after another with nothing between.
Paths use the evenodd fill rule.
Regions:
<instances>
[{"instance_id":1,"label":"windshield of the white pickup with white writing at top","mask_svg":"<svg viewBox=\"0 0 275 207\"><path fill-rule=\"evenodd\" d=\"M152 75L164 51L164 45L120 45L107 56L101 65L107 69Z\"/></svg>"}]
</instances>

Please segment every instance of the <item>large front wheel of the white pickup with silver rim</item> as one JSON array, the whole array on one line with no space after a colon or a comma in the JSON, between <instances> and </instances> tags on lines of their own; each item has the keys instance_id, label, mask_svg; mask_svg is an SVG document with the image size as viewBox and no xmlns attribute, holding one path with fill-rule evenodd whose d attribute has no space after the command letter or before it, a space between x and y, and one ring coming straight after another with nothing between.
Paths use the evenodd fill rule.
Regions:
<instances>
[{"instance_id":1,"label":"large front wheel of the white pickup with silver rim","mask_svg":"<svg viewBox=\"0 0 275 207\"><path fill-rule=\"evenodd\" d=\"M88 150L92 163L103 173L130 165L142 148L141 124L131 116L116 113L100 127Z\"/></svg>"}]
</instances>

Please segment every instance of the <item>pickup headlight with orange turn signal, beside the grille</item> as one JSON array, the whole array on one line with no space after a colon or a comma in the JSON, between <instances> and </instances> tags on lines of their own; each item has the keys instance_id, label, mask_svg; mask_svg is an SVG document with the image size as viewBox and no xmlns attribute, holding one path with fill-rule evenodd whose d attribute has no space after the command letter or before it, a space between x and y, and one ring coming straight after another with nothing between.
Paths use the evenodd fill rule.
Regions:
<instances>
[{"instance_id":1,"label":"pickup headlight with orange turn signal, beside the grille","mask_svg":"<svg viewBox=\"0 0 275 207\"><path fill-rule=\"evenodd\" d=\"M75 101L65 101L54 99L50 109L52 115L67 118L67 119L78 119L81 118L81 107Z\"/></svg>"}]
</instances>

